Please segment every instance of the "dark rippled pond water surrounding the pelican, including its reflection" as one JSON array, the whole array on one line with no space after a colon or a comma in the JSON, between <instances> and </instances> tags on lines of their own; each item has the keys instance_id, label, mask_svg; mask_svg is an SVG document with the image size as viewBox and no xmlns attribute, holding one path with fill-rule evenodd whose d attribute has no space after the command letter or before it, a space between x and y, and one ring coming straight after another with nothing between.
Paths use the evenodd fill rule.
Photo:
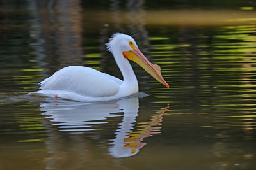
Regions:
<instances>
[{"instance_id":1,"label":"dark rippled pond water surrounding the pelican, including its reflection","mask_svg":"<svg viewBox=\"0 0 256 170\"><path fill-rule=\"evenodd\" d=\"M0 169L255 169L253 5L104 2L1 1ZM122 78L104 45L113 32L132 35L170 89L132 63L150 96L26 96L70 65Z\"/></svg>"}]
</instances>

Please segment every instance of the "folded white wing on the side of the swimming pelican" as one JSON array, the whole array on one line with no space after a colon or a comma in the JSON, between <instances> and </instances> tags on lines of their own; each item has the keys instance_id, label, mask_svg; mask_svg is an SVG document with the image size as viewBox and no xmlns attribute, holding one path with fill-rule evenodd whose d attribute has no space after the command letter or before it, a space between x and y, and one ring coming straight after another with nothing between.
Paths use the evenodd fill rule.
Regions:
<instances>
[{"instance_id":1,"label":"folded white wing on the side of the swimming pelican","mask_svg":"<svg viewBox=\"0 0 256 170\"><path fill-rule=\"evenodd\" d=\"M42 90L64 90L86 97L109 97L115 95L122 80L95 69L69 66L56 71L40 83Z\"/></svg>"}]
</instances>

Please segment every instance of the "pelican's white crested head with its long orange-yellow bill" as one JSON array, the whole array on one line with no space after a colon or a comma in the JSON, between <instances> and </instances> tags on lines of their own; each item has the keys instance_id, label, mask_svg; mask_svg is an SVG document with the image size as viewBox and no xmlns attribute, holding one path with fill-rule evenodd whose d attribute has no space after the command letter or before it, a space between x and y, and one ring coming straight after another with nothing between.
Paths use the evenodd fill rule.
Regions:
<instances>
[{"instance_id":1,"label":"pelican's white crested head with its long orange-yellow bill","mask_svg":"<svg viewBox=\"0 0 256 170\"><path fill-rule=\"evenodd\" d=\"M169 88L168 83L163 79L161 75L161 69L157 64L152 64L148 59L141 53L138 45L131 36L115 33L109 38L107 50L115 55L115 52L122 52L123 57L132 60L139 64L145 71L153 76L157 81Z\"/></svg>"}]
</instances>

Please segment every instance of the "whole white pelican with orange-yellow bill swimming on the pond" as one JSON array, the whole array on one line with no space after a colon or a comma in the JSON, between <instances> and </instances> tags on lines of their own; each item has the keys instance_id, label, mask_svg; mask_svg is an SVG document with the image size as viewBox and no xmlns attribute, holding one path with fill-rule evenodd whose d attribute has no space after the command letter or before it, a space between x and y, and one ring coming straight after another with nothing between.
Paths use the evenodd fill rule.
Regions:
<instances>
[{"instance_id":1,"label":"whole white pelican with orange-yellow bill swimming on the pond","mask_svg":"<svg viewBox=\"0 0 256 170\"><path fill-rule=\"evenodd\" d=\"M113 54L124 80L90 67L68 66L39 83L41 90L30 94L85 102L108 101L136 94L138 81L128 59L139 64L157 81L169 88L161 76L160 67L147 60L131 36L115 33L106 45L107 50Z\"/></svg>"}]
</instances>

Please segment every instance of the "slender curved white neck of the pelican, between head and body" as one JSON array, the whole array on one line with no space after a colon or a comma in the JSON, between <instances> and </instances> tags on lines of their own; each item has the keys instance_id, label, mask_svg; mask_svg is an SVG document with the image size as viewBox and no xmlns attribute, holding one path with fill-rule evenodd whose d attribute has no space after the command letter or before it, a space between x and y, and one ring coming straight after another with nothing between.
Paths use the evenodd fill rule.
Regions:
<instances>
[{"instance_id":1,"label":"slender curved white neck of the pelican, between head and body","mask_svg":"<svg viewBox=\"0 0 256 170\"><path fill-rule=\"evenodd\" d=\"M129 60L124 58L124 55L121 51L113 50L112 54L124 78L122 87L124 87L127 90L127 92L128 91L132 91L132 93L138 92L138 81L134 74L132 66L129 63Z\"/></svg>"}]
</instances>

